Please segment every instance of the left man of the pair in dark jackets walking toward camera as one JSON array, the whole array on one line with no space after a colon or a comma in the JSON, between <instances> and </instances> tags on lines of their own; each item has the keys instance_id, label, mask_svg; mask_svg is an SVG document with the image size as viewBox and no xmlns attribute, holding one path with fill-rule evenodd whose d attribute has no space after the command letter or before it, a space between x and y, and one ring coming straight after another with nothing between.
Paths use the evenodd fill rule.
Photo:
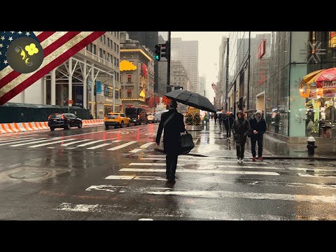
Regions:
<instances>
[{"instance_id":1,"label":"left man of the pair in dark jackets walking toward camera","mask_svg":"<svg viewBox=\"0 0 336 252\"><path fill-rule=\"evenodd\" d=\"M233 122L232 133L236 142L237 159L239 163L244 162L244 151L246 144L246 136L250 130L250 124L245 119L243 111L237 112L237 119Z\"/></svg>"}]
</instances>

